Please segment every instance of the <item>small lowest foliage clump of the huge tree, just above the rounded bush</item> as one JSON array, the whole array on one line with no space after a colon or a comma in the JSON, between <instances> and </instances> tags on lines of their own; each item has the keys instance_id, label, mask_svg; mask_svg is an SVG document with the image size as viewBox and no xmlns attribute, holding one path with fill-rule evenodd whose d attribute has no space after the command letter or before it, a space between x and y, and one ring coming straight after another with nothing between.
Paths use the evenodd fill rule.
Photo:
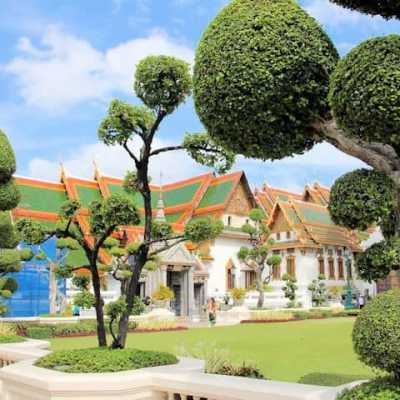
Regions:
<instances>
[{"instance_id":1,"label":"small lowest foliage clump of the huge tree, just above the rounded bush","mask_svg":"<svg viewBox=\"0 0 400 400\"><path fill-rule=\"evenodd\" d=\"M374 243L357 254L356 266L360 278L368 282L385 279L390 271L400 269L400 239Z\"/></svg>"}]
</instances>

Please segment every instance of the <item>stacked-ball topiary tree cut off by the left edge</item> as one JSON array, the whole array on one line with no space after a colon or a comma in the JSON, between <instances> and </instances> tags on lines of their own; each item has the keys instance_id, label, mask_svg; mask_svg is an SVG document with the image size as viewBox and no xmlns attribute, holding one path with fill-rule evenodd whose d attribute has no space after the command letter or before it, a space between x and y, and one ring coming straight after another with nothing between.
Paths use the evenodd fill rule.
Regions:
<instances>
[{"instance_id":1,"label":"stacked-ball topiary tree cut off by the left edge","mask_svg":"<svg viewBox=\"0 0 400 400\"><path fill-rule=\"evenodd\" d=\"M16 169L15 154L6 134L0 130L0 314L7 312L4 300L17 290L17 281L9 274L21 269L21 261L30 259L26 251L18 251L19 236L12 224L11 213L20 200L12 177Z\"/></svg>"}]
</instances>

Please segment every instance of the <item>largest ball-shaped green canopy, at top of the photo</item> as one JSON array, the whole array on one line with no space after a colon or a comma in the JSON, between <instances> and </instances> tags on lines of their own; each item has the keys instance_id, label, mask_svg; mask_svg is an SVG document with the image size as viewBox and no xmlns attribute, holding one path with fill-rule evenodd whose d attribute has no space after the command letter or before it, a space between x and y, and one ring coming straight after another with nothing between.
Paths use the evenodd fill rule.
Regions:
<instances>
[{"instance_id":1,"label":"largest ball-shaped green canopy, at top of the photo","mask_svg":"<svg viewBox=\"0 0 400 400\"><path fill-rule=\"evenodd\" d=\"M338 60L293 0L233 0L196 53L194 100L210 135L236 153L280 159L314 145Z\"/></svg>"}]
</instances>

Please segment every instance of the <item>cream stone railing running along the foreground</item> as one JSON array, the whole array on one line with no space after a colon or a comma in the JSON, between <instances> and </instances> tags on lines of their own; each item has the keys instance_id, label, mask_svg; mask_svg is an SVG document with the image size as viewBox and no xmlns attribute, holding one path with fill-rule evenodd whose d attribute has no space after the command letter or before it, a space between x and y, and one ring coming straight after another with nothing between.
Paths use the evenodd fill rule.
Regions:
<instances>
[{"instance_id":1,"label":"cream stone railing running along the foreground","mask_svg":"<svg viewBox=\"0 0 400 400\"><path fill-rule=\"evenodd\" d=\"M194 359L134 371L69 374L33 365L48 353L43 342L6 347L0 346L0 359L13 363L0 369L5 400L334 400L343 390L205 374L203 361Z\"/></svg>"}]
</instances>

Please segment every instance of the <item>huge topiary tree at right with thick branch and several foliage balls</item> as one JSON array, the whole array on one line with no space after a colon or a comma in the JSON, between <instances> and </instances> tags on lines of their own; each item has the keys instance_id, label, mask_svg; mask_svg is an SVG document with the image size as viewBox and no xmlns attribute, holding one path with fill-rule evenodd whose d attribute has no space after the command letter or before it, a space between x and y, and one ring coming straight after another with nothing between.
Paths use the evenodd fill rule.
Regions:
<instances>
[{"instance_id":1,"label":"huge topiary tree at right with thick branch and several foliage balls","mask_svg":"<svg viewBox=\"0 0 400 400\"><path fill-rule=\"evenodd\" d=\"M335 2L399 17L396 1ZM373 172L356 171L337 183L332 215L351 229L379 224L386 238L396 238L399 69L399 35L367 40L339 60L294 1L232 0L200 41L194 100L210 136L236 153L276 160L326 141L364 161Z\"/></svg>"}]
</instances>

